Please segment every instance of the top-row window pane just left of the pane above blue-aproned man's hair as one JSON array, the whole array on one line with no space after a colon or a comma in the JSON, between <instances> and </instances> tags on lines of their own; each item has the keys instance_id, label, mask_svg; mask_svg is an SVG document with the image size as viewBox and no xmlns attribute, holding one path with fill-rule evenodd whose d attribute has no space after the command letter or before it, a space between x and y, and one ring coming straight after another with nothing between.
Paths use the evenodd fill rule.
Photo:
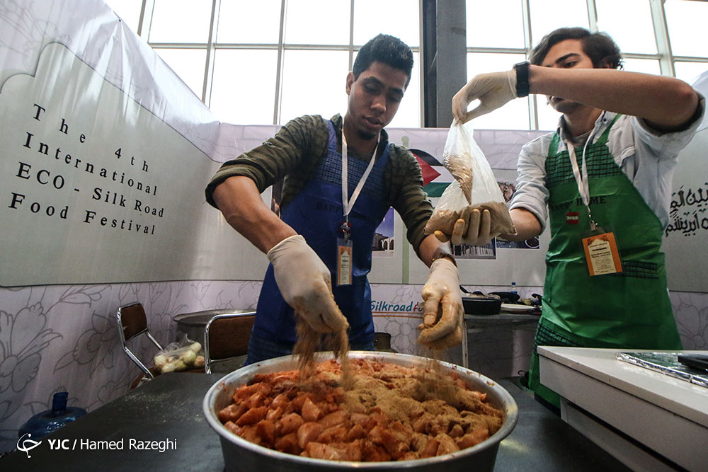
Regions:
<instances>
[{"instance_id":1,"label":"top-row window pane just left of the pane above blue-aproned man's hair","mask_svg":"<svg viewBox=\"0 0 708 472\"><path fill-rule=\"evenodd\" d=\"M299 45L348 45L350 3L288 0L285 42Z\"/></svg>"}]
</instances>

